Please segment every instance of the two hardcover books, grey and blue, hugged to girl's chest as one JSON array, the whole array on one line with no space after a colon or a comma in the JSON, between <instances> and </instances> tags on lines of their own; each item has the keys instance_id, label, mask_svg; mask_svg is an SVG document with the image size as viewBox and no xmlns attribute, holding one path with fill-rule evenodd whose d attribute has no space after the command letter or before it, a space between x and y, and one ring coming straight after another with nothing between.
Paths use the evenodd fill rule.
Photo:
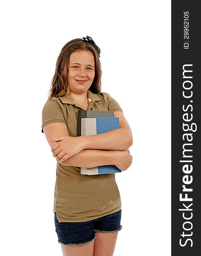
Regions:
<instances>
[{"instance_id":1,"label":"two hardcover books, grey and blue, hugged to girl's chest","mask_svg":"<svg viewBox=\"0 0 201 256\"><path fill-rule=\"evenodd\" d=\"M114 117L112 111L78 110L77 136L101 134L119 128L119 118ZM81 167L84 175L99 175L121 172L115 165L97 166L93 168Z\"/></svg>"}]
</instances>

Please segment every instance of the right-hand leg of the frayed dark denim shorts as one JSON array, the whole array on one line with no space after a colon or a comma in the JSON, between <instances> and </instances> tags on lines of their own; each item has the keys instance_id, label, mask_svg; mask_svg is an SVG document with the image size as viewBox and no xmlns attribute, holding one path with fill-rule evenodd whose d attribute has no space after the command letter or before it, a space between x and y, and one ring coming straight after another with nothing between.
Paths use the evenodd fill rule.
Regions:
<instances>
[{"instance_id":1,"label":"right-hand leg of the frayed dark denim shorts","mask_svg":"<svg viewBox=\"0 0 201 256\"><path fill-rule=\"evenodd\" d=\"M95 231L102 233L115 233L122 229L121 210L96 219Z\"/></svg>"}]
</instances>

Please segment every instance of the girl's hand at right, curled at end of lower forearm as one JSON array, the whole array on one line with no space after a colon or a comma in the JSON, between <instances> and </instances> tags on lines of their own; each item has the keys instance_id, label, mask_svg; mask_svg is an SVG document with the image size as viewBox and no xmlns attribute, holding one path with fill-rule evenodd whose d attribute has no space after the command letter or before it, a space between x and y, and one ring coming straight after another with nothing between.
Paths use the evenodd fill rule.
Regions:
<instances>
[{"instance_id":1,"label":"girl's hand at right, curled at end of lower forearm","mask_svg":"<svg viewBox=\"0 0 201 256\"><path fill-rule=\"evenodd\" d=\"M132 164L132 155L129 149L124 151L116 151L115 166L117 166L121 171L126 171Z\"/></svg>"}]
</instances>

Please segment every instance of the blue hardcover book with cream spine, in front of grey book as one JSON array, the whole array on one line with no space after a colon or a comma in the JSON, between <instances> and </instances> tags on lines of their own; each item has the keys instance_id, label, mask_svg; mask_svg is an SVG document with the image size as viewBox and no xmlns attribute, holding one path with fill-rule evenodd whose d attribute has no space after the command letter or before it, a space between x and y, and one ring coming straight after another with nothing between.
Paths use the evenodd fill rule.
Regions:
<instances>
[{"instance_id":1,"label":"blue hardcover book with cream spine, in front of grey book","mask_svg":"<svg viewBox=\"0 0 201 256\"><path fill-rule=\"evenodd\" d=\"M81 136L101 134L119 128L118 117L82 118ZM98 175L121 172L115 165L97 166L93 168L81 167L81 174Z\"/></svg>"}]
</instances>

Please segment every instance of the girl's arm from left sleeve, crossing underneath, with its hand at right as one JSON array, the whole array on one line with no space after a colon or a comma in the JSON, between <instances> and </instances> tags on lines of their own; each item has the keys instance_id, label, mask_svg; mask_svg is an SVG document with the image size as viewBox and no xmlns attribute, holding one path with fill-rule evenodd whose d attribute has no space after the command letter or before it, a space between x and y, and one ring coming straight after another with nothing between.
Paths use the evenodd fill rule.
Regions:
<instances>
[{"instance_id":1,"label":"girl's arm from left sleeve, crossing underneath, with its hand at right","mask_svg":"<svg viewBox=\"0 0 201 256\"><path fill-rule=\"evenodd\" d=\"M43 131L50 147L55 144L54 137L62 135L69 137L66 125L60 122L46 125ZM55 156L54 153L53 156ZM56 160L59 160L59 158L57 157ZM80 153L62 162L63 165L85 168L112 164L116 165L122 171L126 170L131 163L132 156L129 154L129 151L101 151L91 149L82 150Z\"/></svg>"}]
</instances>

